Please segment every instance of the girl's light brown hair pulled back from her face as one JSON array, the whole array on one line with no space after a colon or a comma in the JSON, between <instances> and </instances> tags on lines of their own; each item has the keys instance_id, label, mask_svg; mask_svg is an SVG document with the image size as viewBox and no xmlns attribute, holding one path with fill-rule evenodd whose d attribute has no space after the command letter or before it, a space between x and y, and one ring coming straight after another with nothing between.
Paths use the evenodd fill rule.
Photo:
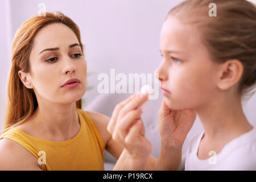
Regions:
<instances>
[{"instance_id":1,"label":"girl's light brown hair pulled back from her face","mask_svg":"<svg viewBox=\"0 0 256 182\"><path fill-rule=\"evenodd\" d=\"M210 3L216 4L216 16L209 16ZM243 74L238 92L241 96L254 93L251 92L256 83L256 7L253 3L245 0L188 0L171 9L166 19L169 16L199 28L212 60L217 63L240 60Z\"/></svg>"}]
</instances>

